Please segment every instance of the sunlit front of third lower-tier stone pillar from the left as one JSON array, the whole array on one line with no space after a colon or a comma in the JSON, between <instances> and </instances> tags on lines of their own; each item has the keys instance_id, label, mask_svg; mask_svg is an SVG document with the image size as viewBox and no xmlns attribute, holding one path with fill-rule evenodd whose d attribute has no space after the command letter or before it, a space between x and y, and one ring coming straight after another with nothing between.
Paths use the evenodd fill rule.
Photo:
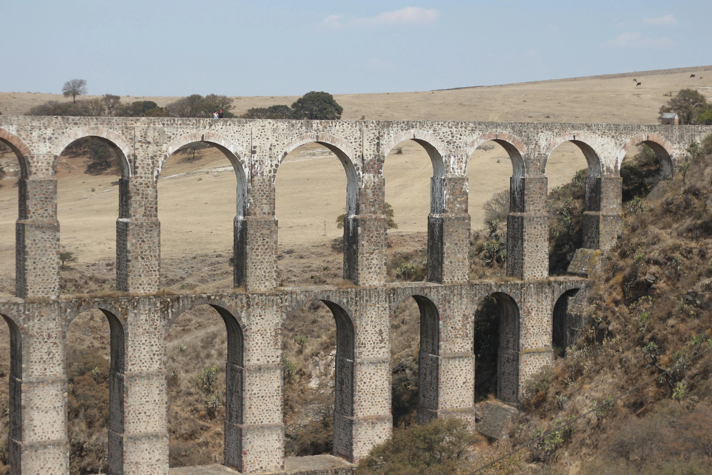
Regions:
<instances>
[{"instance_id":1,"label":"sunlit front of third lower-tier stone pillar from the left","mask_svg":"<svg viewBox=\"0 0 712 475\"><path fill-rule=\"evenodd\" d=\"M253 293L249 298L242 417L241 422L225 424L226 441L232 439L241 447L244 474L284 469L281 296Z\"/></svg>"}]
</instances>

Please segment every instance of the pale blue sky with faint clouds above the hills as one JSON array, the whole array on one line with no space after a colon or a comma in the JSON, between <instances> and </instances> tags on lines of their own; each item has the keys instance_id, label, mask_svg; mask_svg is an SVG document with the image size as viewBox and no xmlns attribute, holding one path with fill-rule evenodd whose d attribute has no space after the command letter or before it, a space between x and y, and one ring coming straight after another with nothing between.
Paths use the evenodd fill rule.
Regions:
<instances>
[{"instance_id":1,"label":"pale blue sky with faint clouds above the hills","mask_svg":"<svg viewBox=\"0 0 712 475\"><path fill-rule=\"evenodd\" d=\"M1 0L0 90L298 95L712 64L712 1Z\"/></svg>"}]
</instances>

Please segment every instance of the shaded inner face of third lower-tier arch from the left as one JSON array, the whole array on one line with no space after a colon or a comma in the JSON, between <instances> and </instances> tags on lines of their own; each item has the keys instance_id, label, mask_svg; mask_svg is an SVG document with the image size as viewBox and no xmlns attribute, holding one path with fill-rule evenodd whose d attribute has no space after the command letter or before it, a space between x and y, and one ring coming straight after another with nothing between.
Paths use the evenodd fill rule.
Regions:
<instances>
[{"instance_id":1,"label":"shaded inner face of third lower-tier arch from the left","mask_svg":"<svg viewBox=\"0 0 712 475\"><path fill-rule=\"evenodd\" d=\"M225 427L224 427L224 464L242 471L242 447L244 438L244 325L231 308L223 306L209 298L197 299L192 305L185 306L169 320L166 332L173 323L188 310L206 305L220 315L227 331L227 360L225 363ZM167 338L167 333L166 333Z\"/></svg>"}]
</instances>

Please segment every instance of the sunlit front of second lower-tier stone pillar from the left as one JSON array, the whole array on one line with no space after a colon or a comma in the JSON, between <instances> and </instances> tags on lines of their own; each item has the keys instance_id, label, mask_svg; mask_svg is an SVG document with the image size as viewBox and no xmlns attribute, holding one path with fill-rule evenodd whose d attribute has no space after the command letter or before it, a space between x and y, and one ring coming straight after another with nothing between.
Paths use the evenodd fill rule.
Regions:
<instances>
[{"instance_id":1,"label":"sunlit front of second lower-tier stone pillar from the left","mask_svg":"<svg viewBox=\"0 0 712 475\"><path fill-rule=\"evenodd\" d=\"M137 298L124 320L124 372L112 374L122 380L123 433L110 439L112 444L122 444L124 474L168 474L167 340L162 311L159 299Z\"/></svg>"}]
</instances>

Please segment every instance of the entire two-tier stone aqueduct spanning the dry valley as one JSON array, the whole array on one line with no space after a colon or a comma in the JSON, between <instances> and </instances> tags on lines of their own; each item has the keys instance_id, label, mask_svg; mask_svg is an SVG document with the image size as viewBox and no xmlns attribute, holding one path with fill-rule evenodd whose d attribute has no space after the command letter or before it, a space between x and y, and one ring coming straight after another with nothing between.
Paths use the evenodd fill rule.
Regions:
<instances>
[{"instance_id":1,"label":"entire two-tier stone aqueduct spanning the dry valley","mask_svg":"<svg viewBox=\"0 0 712 475\"><path fill-rule=\"evenodd\" d=\"M474 424L473 313L494 294L501 304L498 397L518 402L520 383L552 361L553 309L582 278L548 277L545 167L562 142L585 155L584 247L608 249L622 227L619 167L645 142L667 173L706 126L507 122L204 120L0 116L0 140L22 170L16 221L16 298L0 300L11 335L10 459L14 474L68 474L66 332L79 313L110 323L110 474L167 474L166 355L170 325L208 304L228 330L225 460L240 471L281 469L281 327L318 299L337 323L334 452L365 456L392 429L390 320L410 296L421 310L419 419L453 414ZM116 221L116 281L126 297L59 296L59 232L53 168L80 137L108 142L122 162ZM425 283L386 283L384 160L415 140L433 165ZM494 140L511 157L505 283L469 281L466 167ZM157 296L160 223L157 178L189 142L211 142L237 178L234 284L245 291ZM290 150L318 142L347 175L344 278L355 288L277 288L275 178ZM570 292L569 292L570 293Z\"/></svg>"}]
</instances>

